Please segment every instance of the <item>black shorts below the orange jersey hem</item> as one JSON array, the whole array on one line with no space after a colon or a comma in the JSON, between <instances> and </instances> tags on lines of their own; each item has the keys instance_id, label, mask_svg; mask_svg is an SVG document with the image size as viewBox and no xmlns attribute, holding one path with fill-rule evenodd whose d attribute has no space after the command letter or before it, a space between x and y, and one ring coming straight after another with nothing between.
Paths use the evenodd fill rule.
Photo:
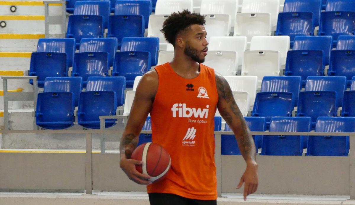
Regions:
<instances>
[{"instance_id":1,"label":"black shorts below the orange jersey hem","mask_svg":"<svg viewBox=\"0 0 355 205\"><path fill-rule=\"evenodd\" d=\"M151 205L217 205L217 200L188 199L176 194L150 193Z\"/></svg>"}]
</instances>

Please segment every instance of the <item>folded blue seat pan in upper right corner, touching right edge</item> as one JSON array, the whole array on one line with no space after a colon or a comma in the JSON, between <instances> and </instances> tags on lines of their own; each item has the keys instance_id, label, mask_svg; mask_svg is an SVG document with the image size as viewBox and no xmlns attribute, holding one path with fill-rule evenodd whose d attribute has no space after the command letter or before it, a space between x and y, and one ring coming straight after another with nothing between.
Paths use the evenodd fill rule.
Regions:
<instances>
[{"instance_id":1,"label":"folded blue seat pan in upper right corner, touching right edge","mask_svg":"<svg viewBox=\"0 0 355 205\"><path fill-rule=\"evenodd\" d=\"M355 12L326 11L321 13L318 35L331 35L333 46L340 35L355 35Z\"/></svg>"}]
</instances>

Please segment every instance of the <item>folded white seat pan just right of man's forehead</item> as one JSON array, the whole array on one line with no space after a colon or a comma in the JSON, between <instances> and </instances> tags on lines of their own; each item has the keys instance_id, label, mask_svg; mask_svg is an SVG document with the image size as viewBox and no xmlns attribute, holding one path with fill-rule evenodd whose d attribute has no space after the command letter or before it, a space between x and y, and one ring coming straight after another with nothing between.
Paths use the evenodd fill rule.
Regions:
<instances>
[{"instance_id":1,"label":"folded white seat pan just right of man's forehead","mask_svg":"<svg viewBox=\"0 0 355 205\"><path fill-rule=\"evenodd\" d=\"M213 14L205 17L207 41L213 36L229 36L230 16L228 14Z\"/></svg>"}]
</instances>

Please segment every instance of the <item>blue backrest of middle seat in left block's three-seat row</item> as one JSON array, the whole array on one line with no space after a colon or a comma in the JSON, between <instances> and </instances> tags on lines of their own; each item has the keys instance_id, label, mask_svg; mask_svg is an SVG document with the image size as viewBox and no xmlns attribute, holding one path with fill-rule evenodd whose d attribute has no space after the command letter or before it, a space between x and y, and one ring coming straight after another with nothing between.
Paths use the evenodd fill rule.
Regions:
<instances>
[{"instance_id":1,"label":"blue backrest of middle seat in left block's three-seat row","mask_svg":"<svg viewBox=\"0 0 355 205\"><path fill-rule=\"evenodd\" d=\"M113 66L116 50L116 38L82 38L80 41L79 52L108 52L110 66Z\"/></svg>"}]
</instances>

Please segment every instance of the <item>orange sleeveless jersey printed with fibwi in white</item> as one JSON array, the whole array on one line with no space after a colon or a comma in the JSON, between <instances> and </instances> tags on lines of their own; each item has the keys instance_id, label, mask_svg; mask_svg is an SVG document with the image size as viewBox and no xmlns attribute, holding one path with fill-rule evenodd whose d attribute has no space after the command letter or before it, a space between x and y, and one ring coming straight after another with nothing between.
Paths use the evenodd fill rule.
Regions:
<instances>
[{"instance_id":1,"label":"orange sleeveless jersey printed with fibwi in white","mask_svg":"<svg viewBox=\"0 0 355 205\"><path fill-rule=\"evenodd\" d=\"M214 70L200 64L200 74L193 79L176 74L170 63L155 70L159 85L150 113L152 141L169 152L171 169L164 179L147 186L148 193L215 200L213 130L218 93Z\"/></svg>"}]
</instances>

